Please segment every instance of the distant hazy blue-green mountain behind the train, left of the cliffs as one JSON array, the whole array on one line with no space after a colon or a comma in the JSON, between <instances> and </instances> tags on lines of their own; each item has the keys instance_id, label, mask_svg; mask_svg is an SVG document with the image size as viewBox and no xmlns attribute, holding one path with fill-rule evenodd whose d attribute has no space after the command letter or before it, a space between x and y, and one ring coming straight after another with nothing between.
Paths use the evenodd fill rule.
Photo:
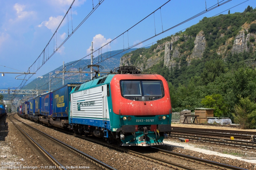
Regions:
<instances>
[{"instance_id":1,"label":"distant hazy blue-green mountain behind the train, left of the cliffs","mask_svg":"<svg viewBox=\"0 0 256 170\"><path fill-rule=\"evenodd\" d=\"M94 57L93 64L99 64L102 67L104 67L103 70L100 69L101 72L109 72L111 69L113 70L114 68L119 67L120 58L124 54L132 52L133 50L136 50L136 49L137 48L132 48L127 51L123 51L123 50L108 51L106 53L98 55L97 57ZM110 57L110 56L114 56L114 57ZM91 59L72 61L72 62L66 63L64 66L66 67L66 71L78 71L79 68L82 68L83 71L86 72L86 71L90 71L90 69L86 67L89 64L91 64ZM51 90L57 89L60 86L62 86L62 73L57 73L57 71L62 71L62 69L63 69L63 66L60 66L46 73L43 76L39 76L35 78L33 81L31 81L30 83L28 83L28 85L24 86L22 89L36 89L36 87L37 89L46 89L46 90L49 89L50 73L52 73ZM81 74L82 82L90 79L90 74L88 73L65 73L64 84L70 83L70 82L80 82L80 74ZM59 78L53 78L53 76L59 77Z\"/></svg>"}]
</instances>

